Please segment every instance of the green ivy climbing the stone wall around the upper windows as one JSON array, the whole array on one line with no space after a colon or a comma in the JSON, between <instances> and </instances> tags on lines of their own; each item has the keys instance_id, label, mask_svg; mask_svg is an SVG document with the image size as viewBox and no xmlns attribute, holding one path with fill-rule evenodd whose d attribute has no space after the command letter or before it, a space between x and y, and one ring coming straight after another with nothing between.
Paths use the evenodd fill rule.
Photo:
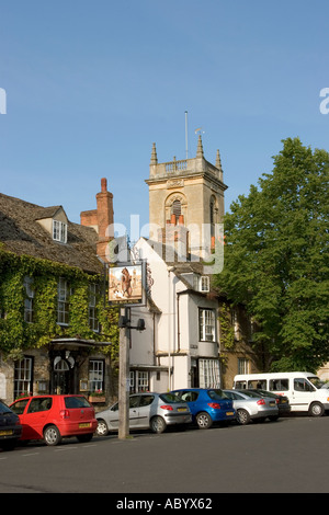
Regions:
<instances>
[{"instance_id":1,"label":"green ivy climbing the stone wall around the upper windows","mask_svg":"<svg viewBox=\"0 0 329 515\"><path fill-rule=\"evenodd\" d=\"M24 321L26 290L24 277L33 278L33 322ZM69 324L57 323L57 284L59 277L70 287ZM16 255L0 247L0 350L7 357L19 358L24 351L50 344L56 336L110 341L102 348L112 359L118 354L118 311L104 305L102 291L97 299L102 331L89 327L89 285L103 285L103 276L80 268L27 255Z\"/></svg>"}]
</instances>

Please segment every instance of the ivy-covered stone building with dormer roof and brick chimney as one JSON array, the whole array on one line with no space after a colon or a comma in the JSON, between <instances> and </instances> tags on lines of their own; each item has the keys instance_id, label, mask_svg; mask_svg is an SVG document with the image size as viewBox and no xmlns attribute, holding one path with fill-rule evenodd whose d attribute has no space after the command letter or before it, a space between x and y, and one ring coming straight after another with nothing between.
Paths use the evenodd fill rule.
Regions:
<instances>
[{"instance_id":1,"label":"ivy-covered stone building with dormer roof and brick chimney","mask_svg":"<svg viewBox=\"0 0 329 515\"><path fill-rule=\"evenodd\" d=\"M0 194L0 399L83 393L109 402L117 385L117 312L105 301L113 224L106 180L98 208L68 220ZM100 404L101 405L101 404Z\"/></svg>"}]
</instances>

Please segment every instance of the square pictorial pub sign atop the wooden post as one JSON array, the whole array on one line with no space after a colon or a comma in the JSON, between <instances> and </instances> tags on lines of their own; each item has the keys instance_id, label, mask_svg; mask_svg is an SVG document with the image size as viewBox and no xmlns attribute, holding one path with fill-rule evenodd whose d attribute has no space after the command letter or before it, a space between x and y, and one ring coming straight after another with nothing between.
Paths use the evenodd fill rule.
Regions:
<instances>
[{"instance_id":1,"label":"square pictorial pub sign atop the wooden post","mask_svg":"<svg viewBox=\"0 0 329 515\"><path fill-rule=\"evenodd\" d=\"M145 263L121 263L109 268L109 301L116 305L144 305Z\"/></svg>"}]
</instances>

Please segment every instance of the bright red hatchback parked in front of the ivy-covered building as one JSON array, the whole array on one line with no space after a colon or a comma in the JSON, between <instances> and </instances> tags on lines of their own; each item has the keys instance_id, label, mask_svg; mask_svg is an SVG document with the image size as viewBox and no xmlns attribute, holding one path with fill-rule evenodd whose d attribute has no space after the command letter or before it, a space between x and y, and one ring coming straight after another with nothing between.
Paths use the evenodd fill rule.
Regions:
<instances>
[{"instance_id":1,"label":"bright red hatchback parked in front of the ivy-covered building","mask_svg":"<svg viewBox=\"0 0 329 515\"><path fill-rule=\"evenodd\" d=\"M94 409L83 396L24 397L10 404L20 417L21 440L44 439L58 445L61 438L76 436L89 442L98 426Z\"/></svg>"}]
</instances>

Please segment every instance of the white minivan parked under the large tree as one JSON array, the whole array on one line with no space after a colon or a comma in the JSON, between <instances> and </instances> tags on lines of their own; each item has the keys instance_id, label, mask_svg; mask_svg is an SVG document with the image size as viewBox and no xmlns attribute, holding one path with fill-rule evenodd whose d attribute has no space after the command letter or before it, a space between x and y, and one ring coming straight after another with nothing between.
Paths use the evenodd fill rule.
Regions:
<instances>
[{"instance_id":1,"label":"white minivan parked under the large tree","mask_svg":"<svg viewBox=\"0 0 329 515\"><path fill-rule=\"evenodd\" d=\"M329 382L308 371L241 374L235 376L234 388L261 388L286 396L292 411L307 411L311 416L321 416L329 410Z\"/></svg>"}]
</instances>

